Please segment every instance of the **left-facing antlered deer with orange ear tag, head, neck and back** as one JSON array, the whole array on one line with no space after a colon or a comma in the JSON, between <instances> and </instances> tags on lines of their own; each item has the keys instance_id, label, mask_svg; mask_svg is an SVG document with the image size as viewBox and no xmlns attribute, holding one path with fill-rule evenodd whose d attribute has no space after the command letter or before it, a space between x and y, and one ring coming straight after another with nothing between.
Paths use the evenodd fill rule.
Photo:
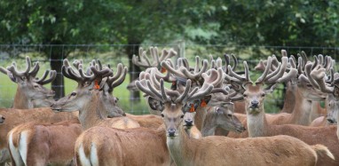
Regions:
<instances>
[{"instance_id":1,"label":"left-facing antlered deer with orange ear tag, head, neck and back","mask_svg":"<svg viewBox=\"0 0 339 166\"><path fill-rule=\"evenodd\" d=\"M97 67L91 66L92 75L83 73L82 63L76 67L78 72L75 72L75 69L70 67L68 60L64 59L62 74L77 82L78 86L75 91L51 105L51 109L58 112L79 110L79 121L83 130L96 125L121 129L139 127L137 122L125 116L107 119L109 112L112 112L109 110L116 107L111 93L114 87L123 82L127 67L123 68L122 64L118 64L116 75L113 75L112 70L107 67L97 69Z\"/></svg>"}]
</instances>

